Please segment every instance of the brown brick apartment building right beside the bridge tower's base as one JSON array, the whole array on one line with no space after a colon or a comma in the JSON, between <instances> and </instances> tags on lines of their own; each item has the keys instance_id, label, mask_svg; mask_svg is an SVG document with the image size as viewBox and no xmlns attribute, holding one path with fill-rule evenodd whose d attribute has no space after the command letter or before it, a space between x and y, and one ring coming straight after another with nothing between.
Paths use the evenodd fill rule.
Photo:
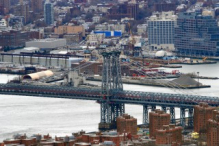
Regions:
<instances>
[{"instance_id":1,"label":"brown brick apartment building right beside the bridge tower's base","mask_svg":"<svg viewBox=\"0 0 219 146\"><path fill-rule=\"evenodd\" d=\"M122 133L130 133L132 135L137 134L137 119L133 118L128 114L123 114L122 116L117 117L117 132Z\"/></svg>"}]
</instances>

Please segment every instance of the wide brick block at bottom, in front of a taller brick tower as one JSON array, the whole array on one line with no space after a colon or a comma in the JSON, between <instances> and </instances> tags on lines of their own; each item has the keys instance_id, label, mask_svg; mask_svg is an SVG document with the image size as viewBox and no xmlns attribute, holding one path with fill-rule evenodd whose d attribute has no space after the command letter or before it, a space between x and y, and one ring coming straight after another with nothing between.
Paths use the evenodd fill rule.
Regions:
<instances>
[{"instance_id":1,"label":"wide brick block at bottom, in front of a taller brick tower","mask_svg":"<svg viewBox=\"0 0 219 146\"><path fill-rule=\"evenodd\" d=\"M175 125L164 125L162 129L156 130L156 144L171 144L179 146L182 144L182 127Z\"/></svg>"}]
</instances>

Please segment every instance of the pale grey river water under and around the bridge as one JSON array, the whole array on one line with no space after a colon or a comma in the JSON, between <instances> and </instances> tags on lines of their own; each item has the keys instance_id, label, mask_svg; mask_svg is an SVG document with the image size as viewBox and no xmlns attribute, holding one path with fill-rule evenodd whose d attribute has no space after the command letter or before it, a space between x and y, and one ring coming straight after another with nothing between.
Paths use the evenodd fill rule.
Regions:
<instances>
[{"instance_id":1,"label":"pale grey river water under and around the bridge","mask_svg":"<svg viewBox=\"0 0 219 146\"><path fill-rule=\"evenodd\" d=\"M219 77L219 64L183 65L183 68L178 70L183 73L199 72L200 76ZM15 76L1 74L0 82L6 83L13 77ZM219 80L199 81L211 85L211 88L182 91L125 84L124 89L219 97ZM138 119L138 124L142 123L142 106L126 105L125 108L126 113ZM179 117L178 109L176 117ZM94 101L0 95L0 141L17 133L26 133L30 136L38 133L65 136L82 129L86 132L96 131L99 121L100 106Z\"/></svg>"}]
</instances>

